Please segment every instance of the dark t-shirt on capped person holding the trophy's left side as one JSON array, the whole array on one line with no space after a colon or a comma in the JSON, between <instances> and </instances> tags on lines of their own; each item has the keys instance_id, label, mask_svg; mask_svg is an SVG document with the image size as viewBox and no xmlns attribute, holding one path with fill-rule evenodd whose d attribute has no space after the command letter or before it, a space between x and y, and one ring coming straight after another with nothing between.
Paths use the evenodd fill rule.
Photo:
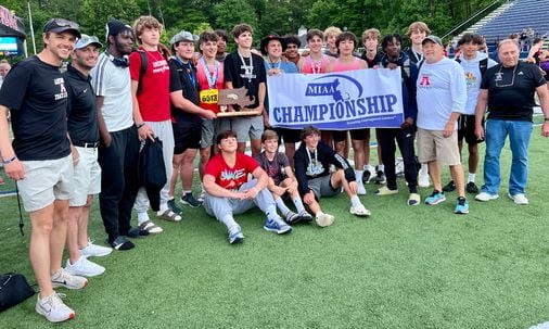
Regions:
<instances>
[{"instance_id":1,"label":"dark t-shirt on capped person holding the trophy's left side","mask_svg":"<svg viewBox=\"0 0 549 329\"><path fill-rule=\"evenodd\" d=\"M169 64L169 92L181 90L183 98L199 105L199 80L196 68L191 62L183 63L177 59L170 59ZM180 125L195 125L201 123L197 114L189 113L171 104L171 121Z\"/></svg>"}]
</instances>

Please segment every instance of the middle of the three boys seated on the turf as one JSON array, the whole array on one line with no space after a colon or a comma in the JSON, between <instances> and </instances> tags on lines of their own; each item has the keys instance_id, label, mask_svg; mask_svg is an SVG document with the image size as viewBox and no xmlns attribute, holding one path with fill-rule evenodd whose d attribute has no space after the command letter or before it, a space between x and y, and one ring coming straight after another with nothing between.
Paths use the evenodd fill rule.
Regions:
<instances>
[{"instance_id":1,"label":"middle of the three boys seated on the turf","mask_svg":"<svg viewBox=\"0 0 549 329\"><path fill-rule=\"evenodd\" d=\"M278 208L282 212L288 224L297 222L311 222L312 216L307 213L303 205L299 191L297 190L297 179L295 179L288 156L278 151L279 136L273 130L265 130L261 135L264 151L254 156L261 168L269 176L267 188L272 193ZM297 210L297 214L292 212L284 203L283 199L290 199Z\"/></svg>"}]
</instances>

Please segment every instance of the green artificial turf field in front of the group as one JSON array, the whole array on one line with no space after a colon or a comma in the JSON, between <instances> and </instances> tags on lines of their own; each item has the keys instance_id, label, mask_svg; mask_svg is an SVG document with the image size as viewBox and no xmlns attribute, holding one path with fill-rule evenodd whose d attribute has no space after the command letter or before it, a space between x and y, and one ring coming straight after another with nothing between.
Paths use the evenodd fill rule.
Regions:
<instances>
[{"instance_id":1,"label":"green artificial turf field in front of the group","mask_svg":"<svg viewBox=\"0 0 549 329\"><path fill-rule=\"evenodd\" d=\"M276 236L254 210L237 217L245 239L230 245L221 224L186 206L182 223L157 220L163 233L92 258L106 273L85 290L60 289L76 318L59 327L528 328L549 320L548 142L536 127L528 206L506 197L508 147L500 199L480 203L470 195L469 215L452 213L455 193L436 206L406 206L399 179L397 195L374 197L378 186L367 186L368 219L352 216L340 195L321 200L335 215L333 226L296 225ZM431 188L420 192L424 199ZM34 282L28 216L23 238L16 210L15 198L0 198L0 273ZM90 236L98 243L105 238L97 201ZM0 327L53 327L35 313L35 302L0 313Z\"/></svg>"}]
</instances>

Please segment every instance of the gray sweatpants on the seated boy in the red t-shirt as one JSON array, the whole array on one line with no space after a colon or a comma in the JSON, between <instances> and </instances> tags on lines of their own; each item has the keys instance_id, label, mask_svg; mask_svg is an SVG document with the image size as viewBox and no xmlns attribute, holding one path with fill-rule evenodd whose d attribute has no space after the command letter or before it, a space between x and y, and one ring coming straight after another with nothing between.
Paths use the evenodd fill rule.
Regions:
<instances>
[{"instance_id":1,"label":"gray sweatpants on the seated boy in the red t-shirt","mask_svg":"<svg viewBox=\"0 0 549 329\"><path fill-rule=\"evenodd\" d=\"M252 179L243 184L239 191L242 192L248 190L256 185L257 179ZM265 214L267 214L267 212L276 212L277 210L274 199L272 199L272 194L267 188L261 189L259 193L257 193L257 197L253 200L219 198L210 195L207 192L204 197L204 210L206 210L206 213L224 223L228 229L233 224L237 224L232 215L243 214L251 210L254 205L257 205L257 207L259 207Z\"/></svg>"}]
</instances>

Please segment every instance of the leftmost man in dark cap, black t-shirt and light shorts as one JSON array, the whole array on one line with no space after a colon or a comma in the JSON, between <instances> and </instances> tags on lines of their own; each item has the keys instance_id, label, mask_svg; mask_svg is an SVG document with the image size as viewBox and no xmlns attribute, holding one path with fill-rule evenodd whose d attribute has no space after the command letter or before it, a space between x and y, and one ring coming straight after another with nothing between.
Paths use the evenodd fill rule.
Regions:
<instances>
[{"instance_id":1,"label":"leftmost man in dark cap, black t-shirt and light shorts","mask_svg":"<svg viewBox=\"0 0 549 329\"><path fill-rule=\"evenodd\" d=\"M68 94L59 68L79 37L78 24L62 18L48 21L43 50L15 65L0 91L1 160L5 174L16 180L33 224L30 263L40 291L35 309L52 322L75 316L53 289L81 289L88 283L61 267L76 157L71 154Z\"/></svg>"}]
</instances>

